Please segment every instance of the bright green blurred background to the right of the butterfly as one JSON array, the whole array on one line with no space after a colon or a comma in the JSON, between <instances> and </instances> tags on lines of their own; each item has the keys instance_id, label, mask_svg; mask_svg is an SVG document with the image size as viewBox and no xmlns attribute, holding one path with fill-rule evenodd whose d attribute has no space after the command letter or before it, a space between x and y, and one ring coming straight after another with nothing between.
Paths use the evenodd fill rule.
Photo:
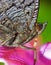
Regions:
<instances>
[{"instance_id":1,"label":"bright green blurred background to the right of the butterfly","mask_svg":"<svg viewBox=\"0 0 51 65\"><path fill-rule=\"evenodd\" d=\"M48 22L46 29L41 34L42 42L51 42L51 0L40 0L38 22Z\"/></svg>"}]
</instances>

